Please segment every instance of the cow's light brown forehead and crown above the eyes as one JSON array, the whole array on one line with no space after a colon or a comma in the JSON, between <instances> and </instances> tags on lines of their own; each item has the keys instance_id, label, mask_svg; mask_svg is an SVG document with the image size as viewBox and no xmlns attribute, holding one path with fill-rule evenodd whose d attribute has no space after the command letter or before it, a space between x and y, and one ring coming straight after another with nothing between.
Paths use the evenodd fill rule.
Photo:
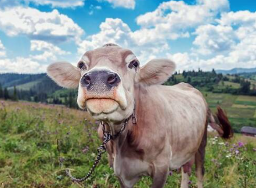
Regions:
<instances>
[{"instance_id":1,"label":"cow's light brown forehead and crown above the eyes","mask_svg":"<svg viewBox=\"0 0 256 188\"><path fill-rule=\"evenodd\" d=\"M108 43L102 47L99 47L98 49L86 51L84 56L89 58L90 65L95 65L99 60L107 58L111 62L114 62L120 66L125 65L125 58L131 54L134 55L134 53L132 53L132 51L129 49L124 49L113 43Z\"/></svg>"}]
</instances>

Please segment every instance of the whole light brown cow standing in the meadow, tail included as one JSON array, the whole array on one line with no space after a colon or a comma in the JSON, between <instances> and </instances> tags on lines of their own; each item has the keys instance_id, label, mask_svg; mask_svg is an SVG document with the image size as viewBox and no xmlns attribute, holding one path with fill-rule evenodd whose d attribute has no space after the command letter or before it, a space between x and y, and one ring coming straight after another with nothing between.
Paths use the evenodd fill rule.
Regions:
<instances>
[{"instance_id":1,"label":"whole light brown cow standing in the meadow, tail included","mask_svg":"<svg viewBox=\"0 0 256 188\"><path fill-rule=\"evenodd\" d=\"M232 137L223 110L218 108L213 115L199 90L187 83L163 85L175 67L166 59L141 67L131 50L109 43L86 51L77 67L56 62L47 69L59 86L78 87L78 106L106 123L111 135L128 120L125 130L107 143L109 163L123 188L134 187L145 175L152 177L152 188L164 187L170 169L179 168L181 187L186 188L194 163L201 188L207 125L222 138ZM133 113L136 125L129 120ZM102 126L98 129L101 138Z\"/></svg>"}]
</instances>

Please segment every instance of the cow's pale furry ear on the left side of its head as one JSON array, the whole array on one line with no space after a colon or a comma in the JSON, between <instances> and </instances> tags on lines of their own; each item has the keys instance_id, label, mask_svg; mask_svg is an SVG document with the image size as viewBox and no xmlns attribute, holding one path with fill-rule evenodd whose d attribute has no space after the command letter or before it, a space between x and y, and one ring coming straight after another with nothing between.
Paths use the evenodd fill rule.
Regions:
<instances>
[{"instance_id":1,"label":"cow's pale furry ear on the left side of its head","mask_svg":"<svg viewBox=\"0 0 256 188\"><path fill-rule=\"evenodd\" d=\"M77 88L81 73L78 68L68 62L55 62L47 68L47 75L59 86Z\"/></svg>"}]
</instances>

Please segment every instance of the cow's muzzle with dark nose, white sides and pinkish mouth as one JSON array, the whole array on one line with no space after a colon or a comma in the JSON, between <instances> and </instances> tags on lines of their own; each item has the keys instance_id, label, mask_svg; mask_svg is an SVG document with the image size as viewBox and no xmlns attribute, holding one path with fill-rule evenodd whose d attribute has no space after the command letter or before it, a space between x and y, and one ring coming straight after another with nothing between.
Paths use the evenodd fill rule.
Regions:
<instances>
[{"instance_id":1,"label":"cow's muzzle with dark nose, white sides and pinkish mouth","mask_svg":"<svg viewBox=\"0 0 256 188\"><path fill-rule=\"evenodd\" d=\"M80 80L78 105L87 108L92 115L110 114L119 107L127 107L120 76L110 70L85 73Z\"/></svg>"}]
</instances>

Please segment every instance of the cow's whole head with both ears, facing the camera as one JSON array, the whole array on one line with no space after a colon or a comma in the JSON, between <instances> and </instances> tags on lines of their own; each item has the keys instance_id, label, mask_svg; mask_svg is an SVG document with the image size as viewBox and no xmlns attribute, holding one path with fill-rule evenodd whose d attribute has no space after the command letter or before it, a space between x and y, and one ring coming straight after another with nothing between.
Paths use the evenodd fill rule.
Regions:
<instances>
[{"instance_id":1,"label":"cow's whole head with both ears, facing the camera","mask_svg":"<svg viewBox=\"0 0 256 188\"><path fill-rule=\"evenodd\" d=\"M161 84L174 70L174 62L164 59L140 68L131 50L107 44L87 51L77 67L56 62L47 72L62 87L78 87L78 105L96 120L122 121L132 114L135 84Z\"/></svg>"}]
</instances>

